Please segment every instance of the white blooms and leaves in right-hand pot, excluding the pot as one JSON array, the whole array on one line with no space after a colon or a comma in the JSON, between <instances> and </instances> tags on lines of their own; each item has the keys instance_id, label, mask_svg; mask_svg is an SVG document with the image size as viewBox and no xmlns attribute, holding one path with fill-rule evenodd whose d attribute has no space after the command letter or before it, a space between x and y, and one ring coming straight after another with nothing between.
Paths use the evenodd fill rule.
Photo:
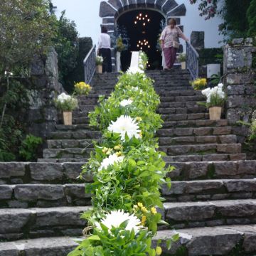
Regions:
<instances>
[{"instance_id":1,"label":"white blooms and leaves in right-hand pot, excluding the pot","mask_svg":"<svg viewBox=\"0 0 256 256\"><path fill-rule=\"evenodd\" d=\"M206 107L222 107L225 102L223 83L219 83L213 88L202 90L202 94L206 96Z\"/></svg>"}]
</instances>

